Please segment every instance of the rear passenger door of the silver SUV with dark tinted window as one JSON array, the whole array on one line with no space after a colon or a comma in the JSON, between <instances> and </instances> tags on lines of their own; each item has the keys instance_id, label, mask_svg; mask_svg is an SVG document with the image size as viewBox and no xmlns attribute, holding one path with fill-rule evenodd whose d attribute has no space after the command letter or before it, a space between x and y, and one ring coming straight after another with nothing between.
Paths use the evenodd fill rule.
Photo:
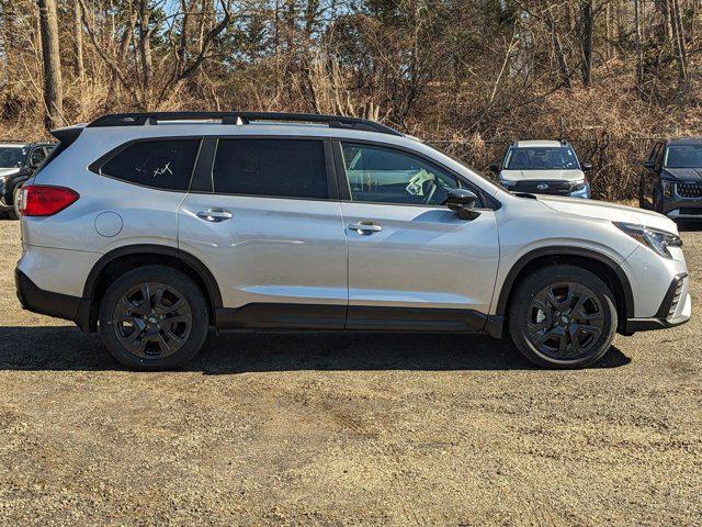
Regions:
<instances>
[{"instance_id":1,"label":"rear passenger door of the silver SUV with dark tinted window","mask_svg":"<svg viewBox=\"0 0 702 527\"><path fill-rule=\"evenodd\" d=\"M212 162L180 208L179 247L217 280L218 326L343 328L347 240L330 142L219 137L203 150Z\"/></svg>"}]
</instances>

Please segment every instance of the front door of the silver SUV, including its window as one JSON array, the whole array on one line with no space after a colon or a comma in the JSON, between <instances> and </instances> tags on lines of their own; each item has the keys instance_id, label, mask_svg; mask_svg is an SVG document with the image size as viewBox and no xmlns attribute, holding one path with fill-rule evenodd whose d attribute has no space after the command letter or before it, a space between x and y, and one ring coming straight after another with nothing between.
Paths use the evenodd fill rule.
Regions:
<instances>
[{"instance_id":1,"label":"front door of the silver SUV, including its window","mask_svg":"<svg viewBox=\"0 0 702 527\"><path fill-rule=\"evenodd\" d=\"M340 144L349 201L347 327L482 328L499 260L492 210L472 221L445 205L448 170L405 150Z\"/></svg>"}]
</instances>

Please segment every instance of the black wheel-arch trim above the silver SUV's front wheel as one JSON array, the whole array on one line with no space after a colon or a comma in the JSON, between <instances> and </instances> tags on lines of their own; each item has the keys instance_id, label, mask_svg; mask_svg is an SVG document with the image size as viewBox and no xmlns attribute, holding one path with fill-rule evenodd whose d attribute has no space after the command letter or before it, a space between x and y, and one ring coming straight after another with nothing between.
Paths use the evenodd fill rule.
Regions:
<instances>
[{"instance_id":1,"label":"black wheel-arch trim above the silver SUV's front wheel","mask_svg":"<svg viewBox=\"0 0 702 527\"><path fill-rule=\"evenodd\" d=\"M536 258L542 258L544 256L581 256L585 258L590 258L597 260L601 264L604 264L609 267L620 283L622 284L622 289L624 291L624 313L626 318L633 318L634 316L634 293L632 292L632 285L629 282L629 277L624 272L624 269L612 258L596 250L573 247L573 246L551 246L551 247L540 247L537 249L531 250L522 256L517 262L512 266L512 268L507 273L505 281L502 282L502 288L500 290L500 295L497 301L496 316L503 317L507 313L507 300L509 299L510 292L512 291L512 287L514 285L514 280L519 273L526 267L530 262L534 261Z\"/></svg>"}]
</instances>

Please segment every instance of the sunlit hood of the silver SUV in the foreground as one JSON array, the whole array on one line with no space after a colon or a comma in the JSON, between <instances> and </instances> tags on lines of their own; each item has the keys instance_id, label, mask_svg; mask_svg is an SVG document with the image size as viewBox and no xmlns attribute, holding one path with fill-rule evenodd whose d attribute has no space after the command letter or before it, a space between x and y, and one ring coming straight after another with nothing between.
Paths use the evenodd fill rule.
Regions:
<instances>
[{"instance_id":1,"label":"sunlit hood of the silver SUV in the foreground","mask_svg":"<svg viewBox=\"0 0 702 527\"><path fill-rule=\"evenodd\" d=\"M598 217L611 222L634 223L669 233L678 233L678 227L672 220L653 211L607 203L604 201L582 200L579 198L537 195L536 199L544 205L558 212Z\"/></svg>"}]
</instances>

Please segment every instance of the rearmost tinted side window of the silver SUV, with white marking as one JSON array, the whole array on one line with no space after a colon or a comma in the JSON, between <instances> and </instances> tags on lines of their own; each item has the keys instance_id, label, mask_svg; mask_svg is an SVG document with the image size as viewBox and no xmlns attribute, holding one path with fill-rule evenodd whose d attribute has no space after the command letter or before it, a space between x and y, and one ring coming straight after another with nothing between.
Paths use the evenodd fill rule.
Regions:
<instances>
[{"instance_id":1,"label":"rearmost tinted side window of the silver SUV, with white marking","mask_svg":"<svg viewBox=\"0 0 702 527\"><path fill-rule=\"evenodd\" d=\"M127 146L100 173L157 189L188 190L200 139L141 141Z\"/></svg>"}]
</instances>

